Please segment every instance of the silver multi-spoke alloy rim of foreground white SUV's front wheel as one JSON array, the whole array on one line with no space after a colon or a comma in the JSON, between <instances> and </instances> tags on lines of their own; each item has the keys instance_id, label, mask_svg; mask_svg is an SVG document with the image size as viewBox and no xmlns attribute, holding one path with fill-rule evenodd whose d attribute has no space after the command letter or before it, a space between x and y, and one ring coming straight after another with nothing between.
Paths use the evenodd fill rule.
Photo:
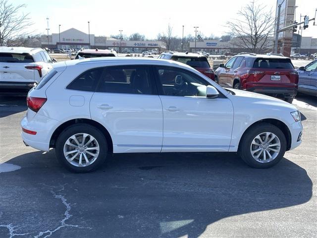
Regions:
<instances>
[{"instance_id":1,"label":"silver multi-spoke alloy rim of foreground white SUV's front wheel","mask_svg":"<svg viewBox=\"0 0 317 238\"><path fill-rule=\"evenodd\" d=\"M281 142L272 132L263 132L257 135L250 146L252 157L260 163L274 160L281 149Z\"/></svg>"}]
</instances>

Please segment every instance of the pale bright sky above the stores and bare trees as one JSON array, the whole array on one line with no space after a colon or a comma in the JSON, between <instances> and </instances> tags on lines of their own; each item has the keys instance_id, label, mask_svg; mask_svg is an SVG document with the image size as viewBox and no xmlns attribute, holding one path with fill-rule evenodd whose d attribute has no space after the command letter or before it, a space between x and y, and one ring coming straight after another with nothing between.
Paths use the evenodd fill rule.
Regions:
<instances>
[{"instance_id":1,"label":"pale bright sky above the stores and bare trees","mask_svg":"<svg viewBox=\"0 0 317 238\"><path fill-rule=\"evenodd\" d=\"M13 4L26 3L23 12L30 13L30 30L38 34L47 34L49 17L50 34L76 28L96 36L119 34L130 35L139 32L147 38L155 38L159 32L166 31L168 23L173 27L173 34L194 35L194 26L205 36L220 36L228 31L225 23L235 18L236 13L250 0L9 0ZM276 0L257 0L272 9L275 14ZM297 20L300 13L313 18L317 0L296 0ZM317 25L310 22L303 30L303 36L317 38Z\"/></svg>"}]
</instances>

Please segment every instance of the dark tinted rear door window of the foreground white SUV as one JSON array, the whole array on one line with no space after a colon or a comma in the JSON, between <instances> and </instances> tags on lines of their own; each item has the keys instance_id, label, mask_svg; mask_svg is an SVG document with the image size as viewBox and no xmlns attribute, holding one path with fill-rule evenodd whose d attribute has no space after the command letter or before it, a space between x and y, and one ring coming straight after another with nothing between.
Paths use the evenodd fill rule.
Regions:
<instances>
[{"instance_id":1,"label":"dark tinted rear door window of the foreground white SUV","mask_svg":"<svg viewBox=\"0 0 317 238\"><path fill-rule=\"evenodd\" d=\"M149 68L139 65L106 67L97 92L153 94Z\"/></svg>"}]
</instances>

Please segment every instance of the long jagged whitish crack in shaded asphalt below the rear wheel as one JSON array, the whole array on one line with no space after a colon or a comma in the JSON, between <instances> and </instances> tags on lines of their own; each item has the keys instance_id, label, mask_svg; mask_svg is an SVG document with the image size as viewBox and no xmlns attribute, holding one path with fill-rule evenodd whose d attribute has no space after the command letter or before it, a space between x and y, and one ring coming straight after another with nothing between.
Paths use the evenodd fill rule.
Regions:
<instances>
[{"instance_id":1,"label":"long jagged whitish crack in shaded asphalt below the rear wheel","mask_svg":"<svg viewBox=\"0 0 317 238\"><path fill-rule=\"evenodd\" d=\"M66 183L67 184L67 183ZM61 189L57 190L56 192L60 192L62 190L64 190L64 186L66 185L60 185ZM65 222L72 217L72 215L69 213L71 210L71 206L69 203L67 203L67 199L63 196L63 195L57 195L56 192L53 191L53 188L55 188L55 186L49 186L46 184L43 184L47 187L51 188L51 193L53 195L54 198L60 199L61 202L65 205L66 207L66 211L64 212L64 218L60 221L60 226L56 227L54 230L47 230L44 232L40 232L37 236L34 236L34 238L48 238L50 236L52 236L52 234L58 230L60 230L61 228L64 227L75 227L75 228L79 228L79 229L91 229L90 227L81 227L79 225L72 225L72 224L65 224Z\"/></svg>"}]
</instances>

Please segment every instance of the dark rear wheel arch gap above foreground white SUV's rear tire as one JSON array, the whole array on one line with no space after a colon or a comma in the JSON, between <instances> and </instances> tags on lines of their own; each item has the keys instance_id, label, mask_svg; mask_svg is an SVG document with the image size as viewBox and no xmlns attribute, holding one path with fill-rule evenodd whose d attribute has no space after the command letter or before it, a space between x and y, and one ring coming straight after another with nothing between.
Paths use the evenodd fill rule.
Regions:
<instances>
[{"instance_id":1,"label":"dark rear wheel arch gap above foreground white SUV's rear tire","mask_svg":"<svg viewBox=\"0 0 317 238\"><path fill-rule=\"evenodd\" d=\"M51 139L50 139L50 148L55 148L55 144L56 144L56 139L57 137L60 135L60 133L66 129L68 126L73 125L73 124L77 124L77 123L87 123L90 124L98 129L101 130L101 132L105 135L106 140L107 140L107 145L108 145L108 152L113 152L113 142L112 142L112 138L111 135L109 133L109 131L106 129L106 127L104 125L102 125L101 123L92 120L92 119L85 119L85 118L81 118L81 119L71 119L68 121L63 122L62 124L60 124L53 132Z\"/></svg>"}]
</instances>

